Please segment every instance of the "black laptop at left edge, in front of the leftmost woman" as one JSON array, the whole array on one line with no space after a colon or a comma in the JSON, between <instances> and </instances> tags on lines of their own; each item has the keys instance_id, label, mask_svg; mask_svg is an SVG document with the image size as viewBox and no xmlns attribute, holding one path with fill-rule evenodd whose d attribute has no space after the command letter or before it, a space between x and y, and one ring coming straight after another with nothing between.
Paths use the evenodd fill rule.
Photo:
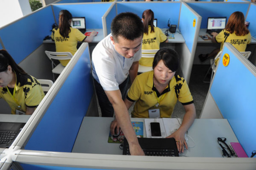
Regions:
<instances>
[{"instance_id":1,"label":"black laptop at left edge, in front of the leftmost woman","mask_svg":"<svg viewBox=\"0 0 256 170\"><path fill-rule=\"evenodd\" d=\"M0 122L0 148L8 148L26 123Z\"/></svg>"}]
</instances>

